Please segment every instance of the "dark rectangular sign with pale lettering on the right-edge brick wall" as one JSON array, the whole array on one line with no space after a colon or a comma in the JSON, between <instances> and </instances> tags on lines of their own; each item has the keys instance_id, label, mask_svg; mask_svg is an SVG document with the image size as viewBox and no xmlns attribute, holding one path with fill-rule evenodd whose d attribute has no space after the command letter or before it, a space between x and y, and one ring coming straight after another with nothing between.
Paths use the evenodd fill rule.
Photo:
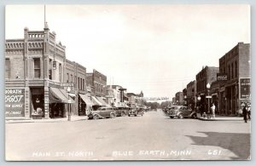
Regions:
<instances>
[{"instance_id":1,"label":"dark rectangular sign with pale lettering on the right-edge brick wall","mask_svg":"<svg viewBox=\"0 0 256 166\"><path fill-rule=\"evenodd\" d=\"M251 99L251 79L240 78L240 99Z\"/></svg>"}]
</instances>

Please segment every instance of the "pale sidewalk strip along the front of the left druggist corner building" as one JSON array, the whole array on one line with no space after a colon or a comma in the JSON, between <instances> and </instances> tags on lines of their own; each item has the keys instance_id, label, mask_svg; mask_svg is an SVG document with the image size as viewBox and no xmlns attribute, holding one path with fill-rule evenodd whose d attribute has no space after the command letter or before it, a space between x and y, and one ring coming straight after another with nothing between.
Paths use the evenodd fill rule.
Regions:
<instances>
[{"instance_id":1,"label":"pale sidewalk strip along the front of the left druggist corner building","mask_svg":"<svg viewBox=\"0 0 256 166\"><path fill-rule=\"evenodd\" d=\"M73 121L80 121L80 120L87 120L87 116L78 116L73 115L71 116L71 122ZM9 119L5 120L5 123L55 123L55 122L67 122L67 117L60 117L60 118L42 118L42 119Z\"/></svg>"}]
</instances>

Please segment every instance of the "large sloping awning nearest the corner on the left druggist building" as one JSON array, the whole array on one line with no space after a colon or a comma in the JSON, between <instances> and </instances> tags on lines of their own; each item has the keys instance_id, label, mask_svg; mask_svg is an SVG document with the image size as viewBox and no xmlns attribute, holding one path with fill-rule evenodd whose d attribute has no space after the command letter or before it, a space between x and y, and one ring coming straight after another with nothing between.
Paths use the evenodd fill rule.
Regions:
<instances>
[{"instance_id":1,"label":"large sloping awning nearest the corner on the left druggist building","mask_svg":"<svg viewBox=\"0 0 256 166\"><path fill-rule=\"evenodd\" d=\"M56 88L49 88L50 91L50 100L49 103L74 103L74 100L69 97L68 102L68 94L64 89L56 89Z\"/></svg>"}]
</instances>

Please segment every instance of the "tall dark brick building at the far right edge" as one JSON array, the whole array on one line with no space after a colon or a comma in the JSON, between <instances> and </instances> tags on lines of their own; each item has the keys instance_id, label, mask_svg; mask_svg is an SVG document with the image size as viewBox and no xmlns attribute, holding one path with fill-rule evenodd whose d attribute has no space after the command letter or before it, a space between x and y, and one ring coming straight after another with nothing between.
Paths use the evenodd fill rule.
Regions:
<instances>
[{"instance_id":1,"label":"tall dark brick building at the far right edge","mask_svg":"<svg viewBox=\"0 0 256 166\"><path fill-rule=\"evenodd\" d=\"M242 102L251 102L251 55L249 43L237 43L219 59L219 110L221 114L237 114Z\"/></svg>"}]
</instances>

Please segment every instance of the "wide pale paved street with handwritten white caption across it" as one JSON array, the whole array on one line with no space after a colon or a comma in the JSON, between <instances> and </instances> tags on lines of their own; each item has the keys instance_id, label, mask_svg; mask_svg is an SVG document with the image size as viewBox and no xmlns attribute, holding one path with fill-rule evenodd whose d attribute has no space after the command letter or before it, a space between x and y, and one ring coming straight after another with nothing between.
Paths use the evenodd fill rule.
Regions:
<instances>
[{"instance_id":1,"label":"wide pale paved street with handwritten white caption across it","mask_svg":"<svg viewBox=\"0 0 256 166\"><path fill-rule=\"evenodd\" d=\"M250 123L163 112L58 123L6 123L8 160L232 160L250 157Z\"/></svg>"}]
</instances>

